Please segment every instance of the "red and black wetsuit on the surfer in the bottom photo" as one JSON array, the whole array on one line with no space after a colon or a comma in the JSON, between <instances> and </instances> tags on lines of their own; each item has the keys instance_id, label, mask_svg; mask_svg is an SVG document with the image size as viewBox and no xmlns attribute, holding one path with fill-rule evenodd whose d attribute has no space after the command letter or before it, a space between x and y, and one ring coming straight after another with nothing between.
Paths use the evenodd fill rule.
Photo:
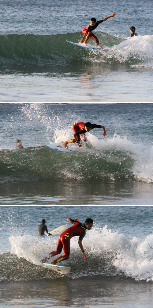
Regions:
<instances>
[{"instance_id":1,"label":"red and black wetsuit on the surfer in the bottom photo","mask_svg":"<svg viewBox=\"0 0 153 308\"><path fill-rule=\"evenodd\" d=\"M58 243L57 243L57 248L55 251L52 251L49 253L49 257L44 258L44 260L48 260L57 254L60 254L62 249L64 250L64 255L58 257L56 260L54 260L54 263L69 259L69 254L70 254L70 239L73 236L78 236L79 240L83 240L85 236L85 230L87 229L84 224L82 224L79 221L71 219L70 222L73 224L72 227L66 229L64 232L61 233L61 235L58 238Z\"/></svg>"}]
</instances>

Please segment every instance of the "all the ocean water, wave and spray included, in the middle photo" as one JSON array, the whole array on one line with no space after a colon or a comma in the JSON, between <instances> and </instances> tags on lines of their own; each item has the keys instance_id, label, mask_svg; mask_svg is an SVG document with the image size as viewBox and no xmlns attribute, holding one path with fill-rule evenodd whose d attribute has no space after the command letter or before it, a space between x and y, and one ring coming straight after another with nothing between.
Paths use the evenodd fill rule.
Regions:
<instances>
[{"instance_id":1,"label":"all the ocean water, wave and spray included, in the middle photo","mask_svg":"<svg viewBox=\"0 0 153 308\"><path fill-rule=\"evenodd\" d=\"M1 205L153 205L152 103L0 104ZM104 125L73 153L47 144ZM14 149L21 139L24 149Z\"/></svg>"}]
</instances>

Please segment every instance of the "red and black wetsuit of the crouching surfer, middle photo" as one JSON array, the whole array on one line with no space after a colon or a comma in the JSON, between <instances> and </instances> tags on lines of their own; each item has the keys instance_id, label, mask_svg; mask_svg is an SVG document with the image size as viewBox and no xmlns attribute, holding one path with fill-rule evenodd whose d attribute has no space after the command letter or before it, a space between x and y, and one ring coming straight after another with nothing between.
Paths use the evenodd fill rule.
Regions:
<instances>
[{"instance_id":1,"label":"red and black wetsuit of the crouching surfer, middle photo","mask_svg":"<svg viewBox=\"0 0 153 308\"><path fill-rule=\"evenodd\" d=\"M86 135L85 135L85 133L87 131L84 129L84 127L85 127L85 123L84 122L78 122L78 123L74 123L72 125L73 133L76 133L78 141L80 141L80 140L86 141L87 140ZM91 129L93 129L93 128L100 128L100 127L101 127L100 125L91 124ZM81 138L80 138L80 135L82 135ZM67 144L68 143L74 143L74 142L77 142L74 138L65 141L65 143L67 143Z\"/></svg>"}]
</instances>

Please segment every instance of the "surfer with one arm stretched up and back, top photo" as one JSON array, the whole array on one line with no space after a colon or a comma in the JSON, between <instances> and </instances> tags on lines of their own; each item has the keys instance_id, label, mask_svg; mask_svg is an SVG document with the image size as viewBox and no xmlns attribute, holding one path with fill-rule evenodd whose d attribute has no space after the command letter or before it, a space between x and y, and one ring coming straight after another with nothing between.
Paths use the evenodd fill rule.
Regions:
<instances>
[{"instance_id":1,"label":"surfer with one arm stretched up and back, top photo","mask_svg":"<svg viewBox=\"0 0 153 308\"><path fill-rule=\"evenodd\" d=\"M82 30L83 39L81 39L81 42L80 42L80 43L81 43L81 44L83 44L83 43L84 43L84 44L87 44L88 39L91 38L91 39L94 39L94 40L95 40L95 42L96 42L96 44L97 44L98 46L100 46L100 45L99 45L99 40L98 40L98 38L96 37L95 34L92 33L92 31L95 30L101 22L107 20L107 19L110 18L110 17L114 17L115 15L116 15L116 13L113 13L112 15L110 15L110 16L104 18L104 19L98 20L98 21L96 21L96 18L94 18L94 17L91 18L90 25L86 26L86 27ZM102 46L100 46L100 47L103 48Z\"/></svg>"}]
</instances>

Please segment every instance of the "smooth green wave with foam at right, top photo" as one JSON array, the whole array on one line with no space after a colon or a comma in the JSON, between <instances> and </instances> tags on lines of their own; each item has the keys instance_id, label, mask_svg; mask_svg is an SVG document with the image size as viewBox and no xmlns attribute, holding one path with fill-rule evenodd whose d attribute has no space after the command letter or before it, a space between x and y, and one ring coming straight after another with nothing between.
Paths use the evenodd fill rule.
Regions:
<instances>
[{"instance_id":1,"label":"smooth green wave with foam at right, top photo","mask_svg":"<svg viewBox=\"0 0 153 308\"><path fill-rule=\"evenodd\" d=\"M76 61L83 64L107 63L142 67L153 67L153 35L135 36L132 39L119 39L116 36L95 32L101 44L107 44L102 51L85 50L67 43L65 40L79 43L81 32L34 35L8 34L0 35L1 64L65 66L71 63L77 67ZM89 39L89 46L94 45Z\"/></svg>"}]
</instances>

